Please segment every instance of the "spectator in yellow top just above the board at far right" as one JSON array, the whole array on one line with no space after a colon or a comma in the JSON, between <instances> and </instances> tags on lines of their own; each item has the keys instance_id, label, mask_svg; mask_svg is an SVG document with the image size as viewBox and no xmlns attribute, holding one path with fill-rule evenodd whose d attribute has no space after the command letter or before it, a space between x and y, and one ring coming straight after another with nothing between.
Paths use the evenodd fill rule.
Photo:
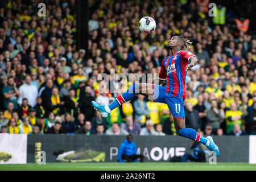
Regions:
<instances>
[{"instance_id":1,"label":"spectator in yellow top just above the board at far right","mask_svg":"<svg viewBox=\"0 0 256 182\"><path fill-rule=\"evenodd\" d=\"M226 134L229 134L234 129L234 124L240 125L242 127L243 115L240 110L237 110L237 105L235 102L230 104L230 110L225 113L226 118Z\"/></svg>"}]
</instances>

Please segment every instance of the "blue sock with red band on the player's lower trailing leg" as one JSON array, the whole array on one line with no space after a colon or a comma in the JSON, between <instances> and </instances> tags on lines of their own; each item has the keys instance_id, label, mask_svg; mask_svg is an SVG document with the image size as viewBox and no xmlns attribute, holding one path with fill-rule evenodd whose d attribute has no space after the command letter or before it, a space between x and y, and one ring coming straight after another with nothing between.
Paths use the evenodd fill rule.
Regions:
<instances>
[{"instance_id":1,"label":"blue sock with red band on the player's lower trailing leg","mask_svg":"<svg viewBox=\"0 0 256 182\"><path fill-rule=\"evenodd\" d=\"M190 138L192 140L196 140L197 142L201 142L203 144L207 144L207 142L208 142L208 140L206 138L202 137L194 129L187 129L184 127L184 129L177 131L177 134L182 137L185 137L185 138Z\"/></svg>"}]
</instances>

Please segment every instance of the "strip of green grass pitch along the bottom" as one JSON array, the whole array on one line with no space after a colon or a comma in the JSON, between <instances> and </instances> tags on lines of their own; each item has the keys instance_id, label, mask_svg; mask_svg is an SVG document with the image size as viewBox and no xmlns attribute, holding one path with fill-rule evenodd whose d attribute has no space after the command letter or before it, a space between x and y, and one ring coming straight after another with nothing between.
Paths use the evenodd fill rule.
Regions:
<instances>
[{"instance_id":1,"label":"strip of green grass pitch along the bottom","mask_svg":"<svg viewBox=\"0 0 256 182\"><path fill-rule=\"evenodd\" d=\"M0 171L256 171L249 163L47 163L0 164Z\"/></svg>"}]
</instances>

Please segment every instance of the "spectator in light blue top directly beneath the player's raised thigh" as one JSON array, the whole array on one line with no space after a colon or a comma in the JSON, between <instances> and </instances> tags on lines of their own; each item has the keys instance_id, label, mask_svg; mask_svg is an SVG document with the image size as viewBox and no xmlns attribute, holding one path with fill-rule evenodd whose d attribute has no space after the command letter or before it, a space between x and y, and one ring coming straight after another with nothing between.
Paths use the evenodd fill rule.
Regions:
<instances>
[{"instance_id":1,"label":"spectator in light blue top directly beneath the player's raised thigh","mask_svg":"<svg viewBox=\"0 0 256 182\"><path fill-rule=\"evenodd\" d=\"M139 94L138 99L134 101L134 121L138 122L141 126L146 122L146 116L149 114L147 103L143 100L144 96Z\"/></svg>"}]
</instances>

